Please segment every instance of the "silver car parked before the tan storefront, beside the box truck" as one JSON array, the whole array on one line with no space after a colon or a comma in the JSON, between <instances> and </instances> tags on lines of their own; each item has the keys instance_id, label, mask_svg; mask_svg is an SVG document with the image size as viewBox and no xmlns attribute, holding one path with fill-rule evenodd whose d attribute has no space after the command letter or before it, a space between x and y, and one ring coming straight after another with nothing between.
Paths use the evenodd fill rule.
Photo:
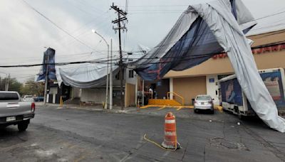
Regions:
<instances>
[{"instance_id":1,"label":"silver car parked before the tan storefront, beside the box truck","mask_svg":"<svg viewBox=\"0 0 285 162\"><path fill-rule=\"evenodd\" d=\"M200 110L209 110L211 114L214 114L213 99L209 95L197 95L194 102L194 112Z\"/></svg>"}]
</instances>

